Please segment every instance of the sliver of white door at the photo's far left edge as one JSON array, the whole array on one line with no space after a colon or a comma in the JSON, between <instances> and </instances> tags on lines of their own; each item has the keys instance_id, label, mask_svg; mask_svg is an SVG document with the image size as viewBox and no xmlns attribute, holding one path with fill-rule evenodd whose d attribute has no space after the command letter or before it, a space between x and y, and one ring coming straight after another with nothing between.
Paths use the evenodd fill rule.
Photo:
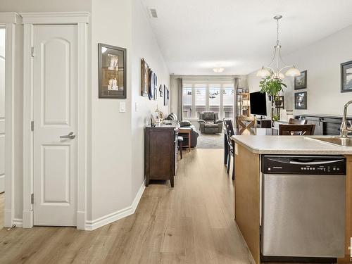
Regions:
<instances>
[{"instance_id":1,"label":"sliver of white door at the photo's far left edge","mask_svg":"<svg viewBox=\"0 0 352 264\"><path fill-rule=\"evenodd\" d=\"M5 29L0 27L0 193L5 191Z\"/></svg>"}]
</instances>

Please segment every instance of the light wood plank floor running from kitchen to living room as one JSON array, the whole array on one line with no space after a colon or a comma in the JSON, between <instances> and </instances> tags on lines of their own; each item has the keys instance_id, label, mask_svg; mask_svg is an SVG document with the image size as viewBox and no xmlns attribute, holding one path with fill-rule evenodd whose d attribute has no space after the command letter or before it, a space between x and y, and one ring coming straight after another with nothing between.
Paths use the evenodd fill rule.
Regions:
<instances>
[{"instance_id":1,"label":"light wood plank floor running from kitchen to living room","mask_svg":"<svg viewBox=\"0 0 352 264\"><path fill-rule=\"evenodd\" d=\"M250 263L221 149L184 151L175 188L146 187L134 215L94 231L0 231L0 263Z\"/></svg>"}]
</instances>

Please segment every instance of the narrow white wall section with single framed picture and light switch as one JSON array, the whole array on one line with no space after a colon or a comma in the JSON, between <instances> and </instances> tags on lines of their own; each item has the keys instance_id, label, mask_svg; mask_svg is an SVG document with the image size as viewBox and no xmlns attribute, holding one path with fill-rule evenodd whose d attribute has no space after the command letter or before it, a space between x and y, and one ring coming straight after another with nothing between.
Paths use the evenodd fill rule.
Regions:
<instances>
[{"instance_id":1,"label":"narrow white wall section with single framed picture and light switch","mask_svg":"<svg viewBox=\"0 0 352 264\"><path fill-rule=\"evenodd\" d=\"M130 1L92 0L92 220L131 205L131 21ZM127 49L127 99L99 99L98 43Z\"/></svg>"}]
</instances>

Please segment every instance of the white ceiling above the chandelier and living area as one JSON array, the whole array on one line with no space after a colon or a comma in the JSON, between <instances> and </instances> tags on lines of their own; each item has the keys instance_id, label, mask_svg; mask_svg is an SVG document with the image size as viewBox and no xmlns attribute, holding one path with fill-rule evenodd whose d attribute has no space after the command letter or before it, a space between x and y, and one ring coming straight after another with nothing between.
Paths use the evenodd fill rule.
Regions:
<instances>
[{"instance_id":1,"label":"white ceiling above the chandelier and living area","mask_svg":"<svg viewBox=\"0 0 352 264\"><path fill-rule=\"evenodd\" d=\"M351 0L142 3L158 12L158 18L149 20L170 74L175 75L214 75L214 67L224 67L222 75L244 75L270 63L276 40L274 15L283 15L283 56L352 25Z\"/></svg>"}]
</instances>

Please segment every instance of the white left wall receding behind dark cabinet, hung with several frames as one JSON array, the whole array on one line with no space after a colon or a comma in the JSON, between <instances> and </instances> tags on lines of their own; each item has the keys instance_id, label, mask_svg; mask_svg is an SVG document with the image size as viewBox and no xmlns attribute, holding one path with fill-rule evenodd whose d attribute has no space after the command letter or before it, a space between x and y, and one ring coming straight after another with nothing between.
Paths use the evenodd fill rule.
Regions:
<instances>
[{"instance_id":1,"label":"white left wall receding behind dark cabinet, hung with several frames","mask_svg":"<svg viewBox=\"0 0 352 264\"><path fill-rule=\"evenodd\" d=\"M156 107L165 115L169 106L164 106L163 97L149 101L148 96L140 96L141 58L158 75L158 87L169 87L170 74L149 24L146 8L140 0L132 1L132 199L144 182L144 127L149 124L150 115ZM165 96L165 95L164 95ZM137 103L138 111L135 109Z\"/></svg>"}]
</instances>

